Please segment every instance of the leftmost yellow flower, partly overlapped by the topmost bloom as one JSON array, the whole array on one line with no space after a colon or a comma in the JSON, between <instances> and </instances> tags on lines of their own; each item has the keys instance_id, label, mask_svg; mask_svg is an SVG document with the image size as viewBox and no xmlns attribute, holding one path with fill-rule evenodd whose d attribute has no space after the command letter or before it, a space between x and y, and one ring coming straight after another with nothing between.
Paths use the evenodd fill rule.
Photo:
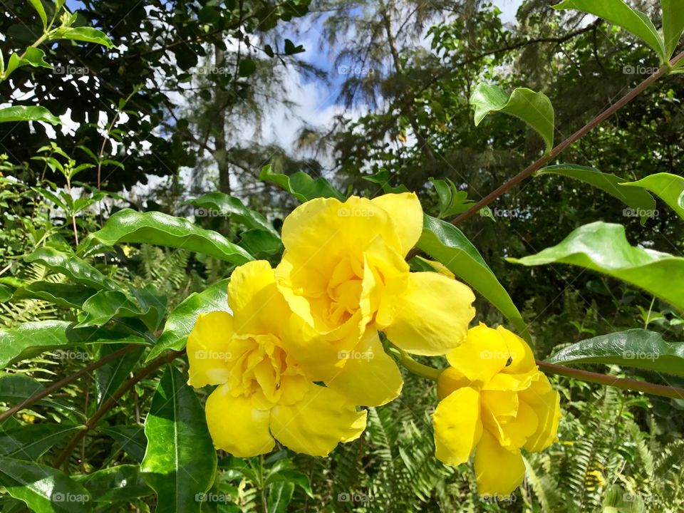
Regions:
<instances>
[{"instance_id":1,"label":"leftmost yellow flower, partly overlapped by the topmost bloom","mask_svg":"<svg viewBox=\"0 0 684 513\"><path fill-rule=\"evenodd\" d=\"M326 456L356 440L366 411L305 377L288 350L306 326L276 289L266 261L238 267L223 311L201 314L187 339L188 383L219 385L207 399L214 446L237 457L269 452L274 438L296 452Z\"/></svg>"}]
</instances>

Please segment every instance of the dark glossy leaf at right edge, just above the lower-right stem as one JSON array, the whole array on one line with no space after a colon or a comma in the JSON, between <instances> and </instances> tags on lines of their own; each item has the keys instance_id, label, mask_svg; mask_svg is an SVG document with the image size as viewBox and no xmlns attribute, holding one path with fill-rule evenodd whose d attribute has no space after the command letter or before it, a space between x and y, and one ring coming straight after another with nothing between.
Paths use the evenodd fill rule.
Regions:
<instances>
[{"instance_id":1,"label":"dark glossy leaf at right edge, just above the lower-right stem","mask_svg":"<svg viewBox=\"0 0 684 513\"><path fill-rule=\"evenodd\" d=\"M574 343L548 361L605 363L684 376L684 342L670 343L660 333L631 329Z\"/></svg>"}]
</instances>

